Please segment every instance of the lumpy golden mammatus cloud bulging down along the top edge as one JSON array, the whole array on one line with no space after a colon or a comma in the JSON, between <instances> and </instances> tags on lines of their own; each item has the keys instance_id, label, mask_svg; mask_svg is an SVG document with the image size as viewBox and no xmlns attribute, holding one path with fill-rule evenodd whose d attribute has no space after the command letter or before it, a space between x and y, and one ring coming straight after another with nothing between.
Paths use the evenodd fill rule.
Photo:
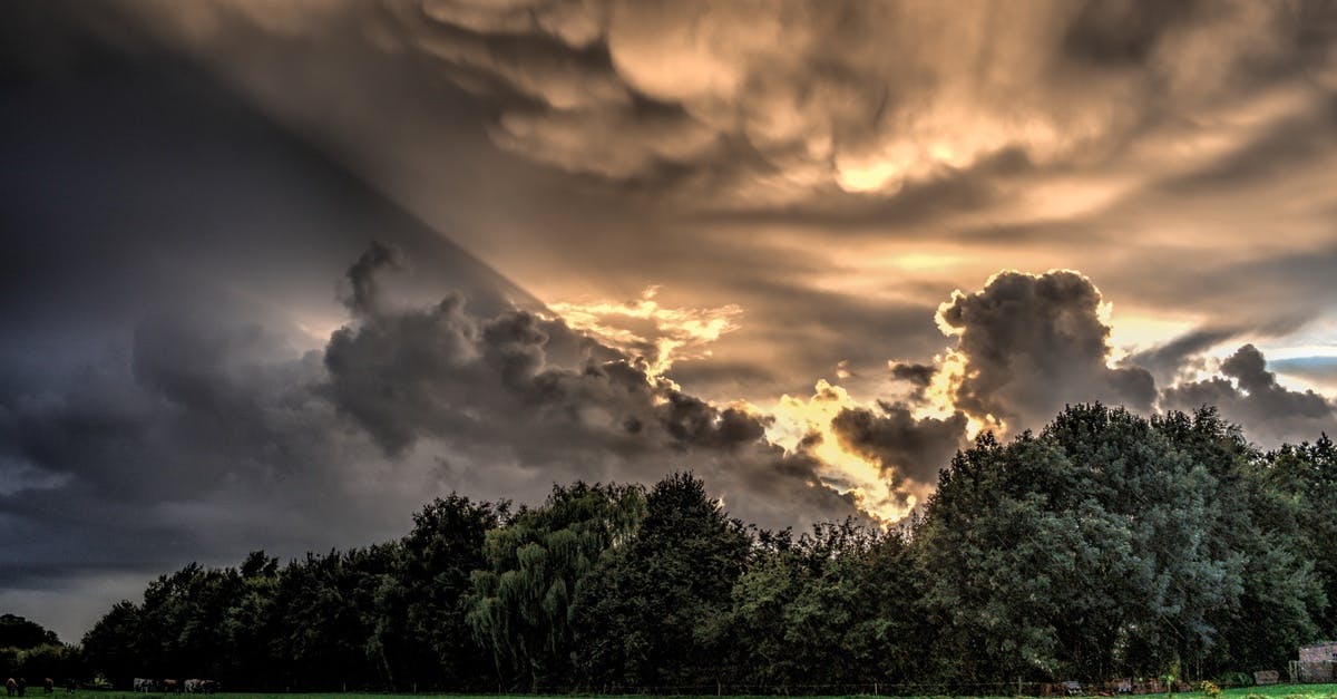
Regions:
<instances>
[{"instance_id":1,"label":"lumpy golden mammatus cloud bulging down along the top edge","mask_svg":"<svg viewBox=\"0 0 1337 699\"><path fill-rule=\"evenodd\" d=\"M503 147L727 206L888 194L1005 153L1084 165L1280 67L1332 68L1305 42L1318 3L388 7L406 48L509 96Z\"/></svg>"}]
</instances>

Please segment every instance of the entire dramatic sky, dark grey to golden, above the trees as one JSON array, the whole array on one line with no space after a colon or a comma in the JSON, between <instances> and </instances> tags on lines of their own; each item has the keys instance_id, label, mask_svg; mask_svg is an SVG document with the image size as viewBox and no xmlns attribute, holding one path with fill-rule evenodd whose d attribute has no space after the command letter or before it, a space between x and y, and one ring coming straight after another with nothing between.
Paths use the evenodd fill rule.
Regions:
<instances>
[{"instance_id":1,"label":"entire dramatic sky, dark grey to golden, above the trees","mask_svg":"<svg viewBox=\"0 0 1337 699\"><path fill-rule=\"evenodd\" d=\"M13 0L0 611L1066 403L1337 433L1337 3Z\"/></svg>"}]
</instances>

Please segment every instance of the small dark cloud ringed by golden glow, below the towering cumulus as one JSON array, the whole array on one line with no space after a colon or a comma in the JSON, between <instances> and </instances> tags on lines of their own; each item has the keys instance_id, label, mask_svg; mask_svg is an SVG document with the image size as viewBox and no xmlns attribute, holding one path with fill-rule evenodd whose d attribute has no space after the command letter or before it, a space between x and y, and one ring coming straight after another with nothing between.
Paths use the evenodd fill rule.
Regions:
<instances>
[{"instance_id":1,"label":"small dark cloud ringed by golden glow, below the towering cumulus","mask_svg":"<svg viewBox=\"0 0 1337 699\"><path fill-rule=\"evenodd\" d=\"M842 410L832 430L846 449L880 463L893 483L905 478L937 483L937 471L965 443L965 415L917 419L904 404L880 402L877 407Z\"/></svg>"}]
</instances>

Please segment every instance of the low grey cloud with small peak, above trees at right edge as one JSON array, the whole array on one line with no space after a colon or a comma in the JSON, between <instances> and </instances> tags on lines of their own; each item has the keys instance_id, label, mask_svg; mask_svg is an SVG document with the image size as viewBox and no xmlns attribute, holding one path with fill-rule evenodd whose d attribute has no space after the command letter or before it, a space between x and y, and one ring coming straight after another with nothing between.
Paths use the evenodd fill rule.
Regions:
<instances>
[{"instance_id":1,"label":"low grey cloud with small peak, above trees at right edge","mask_svg":"<svg viewBox=\"0 0 1337 699\"><path fill-rule=\"evenodd\" d=\"M1215 406L1225 419L1241 424L1250 439L1265 446L1313 441L1320 433L1337 430L1337 406L1313 391L1292 391L1278 384L1262 352L1251 344L1222 362L1221 374L1165 390L1162 408L1191 411Z\"/></svg>"}]
</instances>

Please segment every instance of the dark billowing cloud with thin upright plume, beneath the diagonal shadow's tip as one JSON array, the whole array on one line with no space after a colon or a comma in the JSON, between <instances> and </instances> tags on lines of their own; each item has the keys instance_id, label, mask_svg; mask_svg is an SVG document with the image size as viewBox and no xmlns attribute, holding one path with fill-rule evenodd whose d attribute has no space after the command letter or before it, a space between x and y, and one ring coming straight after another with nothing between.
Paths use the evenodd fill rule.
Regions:
<instances>
[{"instance_id":1,"label":"dark billowing cloud with thin upright plume, beneath the diagonal shadow's tip","mask_svg":"<svg viewBox=\"0 0 1337 699\"><path fill-rule=\"evenodd\" d=\"M390 256L373 246L349 269L365 299L382 299ZM365 427L392 457L436 439L481 459L541 469L550 479L652 479L691 467L723 493L734 512L785 524L778 503L754 490L787 491L801 517L852 512L821 482L816 465L765 439L762 418L718 408L647 376L560 320L524 311L479 317L448 296L428 307L350 303L356 323L325 352L333 404ZM582 344L574 364L555 362L550 344Z\"/></svg>"}]
</instances>

